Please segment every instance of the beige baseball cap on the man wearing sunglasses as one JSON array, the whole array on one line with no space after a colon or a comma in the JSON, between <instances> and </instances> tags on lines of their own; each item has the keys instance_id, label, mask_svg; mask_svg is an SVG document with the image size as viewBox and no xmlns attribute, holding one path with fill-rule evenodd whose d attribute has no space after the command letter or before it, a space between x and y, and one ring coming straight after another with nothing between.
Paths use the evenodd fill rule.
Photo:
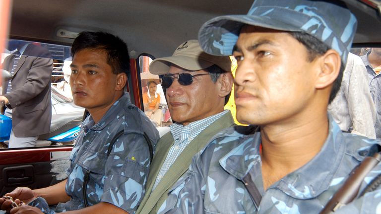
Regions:
<instances>
[{"instance_id":1,"label":"beige baseball cap on the man wearing sunglasses","mask_svg":"<svg viewBox=\"0 0 381 214\"><path fill-rule=\"evenodd\" d=\"M185 70L202 70L213 64L225 71L231 71L232 61L229 56L215 56L202 51L197 40L188 40L181 44L172 56L157 58L149 65L152 74L167 74L169 67L174 64Z\"/></svg>"}]
</instances>

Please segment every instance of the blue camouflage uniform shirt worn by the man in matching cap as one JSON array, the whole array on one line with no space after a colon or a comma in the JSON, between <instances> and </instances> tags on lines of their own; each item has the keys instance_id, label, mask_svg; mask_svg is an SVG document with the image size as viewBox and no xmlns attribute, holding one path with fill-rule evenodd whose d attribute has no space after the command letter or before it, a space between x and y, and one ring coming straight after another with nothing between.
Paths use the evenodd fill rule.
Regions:
<instances>
[{"instance_id":1,"label":"blue camouflage uniform shirt worn by the man in matching cap","mask_svg":"<svg viewBox=\"0 0 381 214\"><path fill-rule=\"evenodd\" d=\"M342 133L329 117L329 134L318 155L264 191L260 139L260 132L253 126L230 127L217 134L200 155L193 157L189 170L170 190L158 213L316 214L369 148L380 143ZM361 189L380 171L379 164L367 175ZM247 174L262 197L259 206L254 205L243 182ZM335 214L376 213L381 207L380 195L380 190L369 192Z\"/></svg>"}]
</instances>

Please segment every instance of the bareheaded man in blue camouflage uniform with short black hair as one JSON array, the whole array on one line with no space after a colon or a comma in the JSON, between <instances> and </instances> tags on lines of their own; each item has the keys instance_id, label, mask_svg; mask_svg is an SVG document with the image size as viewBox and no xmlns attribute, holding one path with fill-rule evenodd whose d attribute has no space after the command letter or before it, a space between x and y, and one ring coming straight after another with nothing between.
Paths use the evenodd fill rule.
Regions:
<instances>
[{"instance_id":1,"label":"bareheaded man in blue camouflage uniform with short black hair","mask_svg":"<svg viewBox=\"0 0 381 214\"><path fill-rule=\"evenodd\" d=\"M73 100L90 115L81 124L71 152L68 178L42 189L21 187L7 193L16 203L22 200L29 205L10 212L135 213L159 134L124 92L127 45L109 33L82 32L71 54ZM0 204L1 209L10 209L10 200L0 199Z\"/></svg>"}]
</instances>

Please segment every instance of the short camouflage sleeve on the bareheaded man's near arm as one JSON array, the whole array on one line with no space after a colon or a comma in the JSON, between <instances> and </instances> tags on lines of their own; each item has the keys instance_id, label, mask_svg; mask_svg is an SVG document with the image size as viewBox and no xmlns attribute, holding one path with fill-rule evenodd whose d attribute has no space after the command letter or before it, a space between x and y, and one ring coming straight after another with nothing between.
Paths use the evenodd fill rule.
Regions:
<instances>
[{"instance_id":1,"label":"short camouflage sleeve on the bareheaded man's near arm","mask_svg":"<svg viewBox=\"0 0 381 214\"><path fill-rule=\"evenodd\" d=\"M144 196L149 163L149 149L143 135L122 135L106 161L101 201L135 213Z\"/></svg>"}]
</instances>

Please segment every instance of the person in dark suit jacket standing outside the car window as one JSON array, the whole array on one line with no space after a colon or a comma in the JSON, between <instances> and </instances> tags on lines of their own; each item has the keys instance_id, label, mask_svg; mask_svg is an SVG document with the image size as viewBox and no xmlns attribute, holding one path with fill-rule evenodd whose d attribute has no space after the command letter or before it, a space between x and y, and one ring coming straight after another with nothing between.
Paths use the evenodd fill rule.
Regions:
<instances>
[{"instance_id":1,"label":"person in dark suit jacket standing outside the car window","mask_svg":"<svg viewBox=\"0 0 381 214\"><path fill-rule=\"evenodd\" d=\"M35 44L19 44L21 54L10 80L3 82L0 104L5 104L5 115L12 117L9 148L32 147L38 135L48 133L52 118L51 75L53 60L48 49ZM18 53L17 53L18 54ZM2 68L12 71L16 57L11 54L4 59Z\"/></svg>"}]
</instances>

